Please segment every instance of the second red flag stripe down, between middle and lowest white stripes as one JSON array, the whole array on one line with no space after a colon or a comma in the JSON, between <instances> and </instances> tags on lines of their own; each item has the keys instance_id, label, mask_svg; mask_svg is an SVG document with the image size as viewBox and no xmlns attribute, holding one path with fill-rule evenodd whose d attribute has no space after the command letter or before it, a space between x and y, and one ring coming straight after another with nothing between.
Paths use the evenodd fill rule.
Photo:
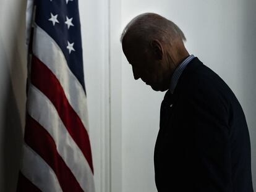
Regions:
<instances>
[{"instance_id":1,"label":"second red flag stripe down, between middle and lowest white stripes","mask_svg":"<svg viewBox=\"0 0 256 192\"><path fill-rule=\"evenodd\" d=\"M63 191L83 191L69 167L59 156L51 135L30 115L27 115L26 119L24 140L53 169Z\"/></svg>"}]
</instances>

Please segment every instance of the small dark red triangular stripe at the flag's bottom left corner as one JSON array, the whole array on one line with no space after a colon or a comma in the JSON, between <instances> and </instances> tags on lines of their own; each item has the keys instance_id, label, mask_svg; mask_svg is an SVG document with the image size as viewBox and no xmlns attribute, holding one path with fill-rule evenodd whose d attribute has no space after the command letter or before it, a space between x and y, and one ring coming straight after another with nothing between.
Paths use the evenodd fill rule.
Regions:
<instances>
[{"instance_id":1,"label":"small dark red triangular stripe at the flag's bottom left corner","mask_svg":"<svg viewBox=\"0 0 256 192\"><path fill-rule=\"evenodd\" d=\"M28 180L21 172L19 172L19 180L17 183L17 192L40 192L30 180Z\"/></svg>"}]
</instances>

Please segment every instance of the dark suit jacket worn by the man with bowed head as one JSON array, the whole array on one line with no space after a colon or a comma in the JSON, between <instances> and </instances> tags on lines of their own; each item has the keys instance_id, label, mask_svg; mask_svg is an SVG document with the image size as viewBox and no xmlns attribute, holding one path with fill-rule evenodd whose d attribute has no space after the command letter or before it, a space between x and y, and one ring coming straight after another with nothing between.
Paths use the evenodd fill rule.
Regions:
<instances>
[{"instance_id":1,"label":"dark suit jacket worn by the man with bowed head","mask_svg":"<svg viewBox=\"0 0 256 192\"><path fill-rule=\"evenodd\" d=\"M193 59L161 104L155 145L158 191L252 192L250 138L228 85Z\"/></svg>"}]
</instances>

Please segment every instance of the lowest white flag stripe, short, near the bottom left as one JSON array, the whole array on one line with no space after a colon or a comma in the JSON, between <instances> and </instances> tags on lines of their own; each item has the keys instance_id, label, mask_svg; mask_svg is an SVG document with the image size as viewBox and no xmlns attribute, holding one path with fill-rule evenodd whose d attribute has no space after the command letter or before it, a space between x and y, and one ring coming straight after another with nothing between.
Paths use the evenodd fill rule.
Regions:
<instances>
[{"instance_id":1,"label":"lowest white flag stripe, short, near the bottom left","mask_svg":"<svg viewBox=\"0 0 256 192\"><path fill-rule=\"evenodd\" d=\"M23 144L23 161L20 170L41 191L62 191L58 178L46 162L27 144Z\"/></svg>"}]
</instances>

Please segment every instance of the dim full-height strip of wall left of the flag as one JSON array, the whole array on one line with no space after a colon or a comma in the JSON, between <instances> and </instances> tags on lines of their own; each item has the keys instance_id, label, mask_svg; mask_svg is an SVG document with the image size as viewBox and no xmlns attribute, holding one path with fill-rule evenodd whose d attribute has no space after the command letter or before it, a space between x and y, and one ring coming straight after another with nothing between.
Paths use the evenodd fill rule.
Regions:
<instances>
[{"instance_id":1,"label":"dim full-height strip of wall left of the flag","mask_svg":"<svg viewBox=\"0 0 256 192\"><path fill-rule=\"evenodd\" d=\"M7 73L1 80L5 89L2 90L1 119L1 163L0 191L16 191L17 178L20 168L21 150L23 142L23 126L25 119L25 81L27 64L25 56L25 1L12 1L12 15L4 30L8 33L0 34L2 73ZM11 4L10 3L10 4ZM6 3L3 3L7 8ZM3 9L4 9L3 6ZM8 7L9 9L9 7ZM6 12L6 11L5 11ZM7 13L8 14L8 13ZM8 16L4 16L7 18ZM15 20L15 23L13 21ZM5 39L7 38L7 39ZM1 178L2 177L2 178Z\"/></svg>"}]
</instances>

